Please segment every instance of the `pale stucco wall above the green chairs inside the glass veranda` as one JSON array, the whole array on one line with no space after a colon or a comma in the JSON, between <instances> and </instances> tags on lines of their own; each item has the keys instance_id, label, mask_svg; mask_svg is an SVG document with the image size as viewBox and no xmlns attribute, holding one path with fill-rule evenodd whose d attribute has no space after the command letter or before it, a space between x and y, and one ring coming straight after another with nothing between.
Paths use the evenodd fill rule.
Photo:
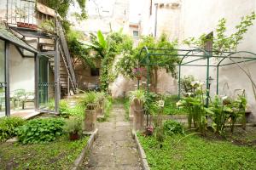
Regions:
<instances>
[{"instance_id":1,"label":"pale stucco wall above the green chairs inside the glass veranda","mask_svg":"<svg viewBox=\"0 0 256 170\"><path fill-rule=\"evenodd\" d=\"M11 95L16 89L25 89L27 92L34 92L34 58L23 58L14 45L10 45L9 56L9 82Z\"/></svg>"}]
</instances>

